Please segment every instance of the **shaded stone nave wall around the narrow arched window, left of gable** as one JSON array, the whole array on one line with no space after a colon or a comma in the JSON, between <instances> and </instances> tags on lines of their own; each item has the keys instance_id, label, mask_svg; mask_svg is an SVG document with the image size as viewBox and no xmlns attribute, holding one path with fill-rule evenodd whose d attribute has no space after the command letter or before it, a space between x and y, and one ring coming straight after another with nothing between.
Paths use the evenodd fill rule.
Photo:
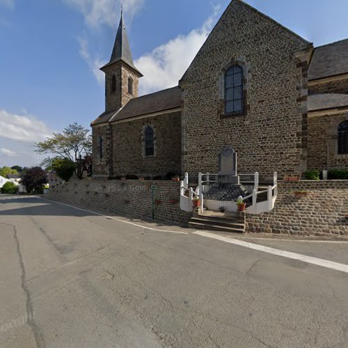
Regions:
<instances>
[{"instance_id":1,"label":"shaded stone nave wall around the narrow arched window, left of gable","mask_svg":"<svg viewBox=\"0 0 348 348\"><path fill-rule=\"evenodd\" d=\"M143 153L143 129L155 131L155 156ZM168 113L112 125L113 175L181 173L181 113Z\"/></svg>"}]
</instances>

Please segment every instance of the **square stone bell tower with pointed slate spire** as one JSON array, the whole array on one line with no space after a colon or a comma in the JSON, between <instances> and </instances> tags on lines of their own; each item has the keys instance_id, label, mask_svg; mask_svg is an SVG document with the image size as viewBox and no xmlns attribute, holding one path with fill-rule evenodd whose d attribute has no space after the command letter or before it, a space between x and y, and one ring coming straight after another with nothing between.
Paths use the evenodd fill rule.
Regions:
<instances>
[{"instance_id":1,"label":"square stone bell tower with pointed slate spire","mask_svg":"<svg viewBox=\"0 0 348 348\"><path fill-rule=\"evenodd\" d=\"M132 52L121 11L120 24L109 63L100 68L105 74L105 111L116 111L139 95L143 76L133 63Z\"/></svg>"}]
</instances>

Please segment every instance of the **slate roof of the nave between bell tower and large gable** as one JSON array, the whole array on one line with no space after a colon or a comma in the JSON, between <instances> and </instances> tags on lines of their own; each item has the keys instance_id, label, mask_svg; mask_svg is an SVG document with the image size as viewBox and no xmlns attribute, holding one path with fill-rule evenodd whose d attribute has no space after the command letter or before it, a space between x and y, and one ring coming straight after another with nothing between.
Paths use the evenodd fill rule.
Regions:
<instances>
[{"instance_id":1,"label":"slate roof of the nave between bell tower and large gable","mask_svg":"<svg viewBox=\"0 0 348 348\"><path fill-rule=\"evenodd\" d=\"M176 86L133 98L120 110L102 113L102 115L92 122L92 125L131 119L137 116L147 115L148 113L177 109L180 106L181 88Z\"/></svg>"}]
</instances>

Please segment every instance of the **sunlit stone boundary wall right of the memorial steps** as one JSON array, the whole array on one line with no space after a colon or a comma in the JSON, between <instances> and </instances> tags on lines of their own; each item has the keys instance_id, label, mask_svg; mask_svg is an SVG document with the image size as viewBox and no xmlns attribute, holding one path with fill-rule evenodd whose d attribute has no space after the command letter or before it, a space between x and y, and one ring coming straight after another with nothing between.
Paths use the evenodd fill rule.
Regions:
<instances>
[{"instance_id":1,"label":"sunlit stone boundary wall right of the memorial steps","mask_svg":"<svg viewBox=\"0 0 348 348\"><path fill-rule=\"evenodd\" d=\"M296 197L295 191L308 193ZM274 209L260 215L247 214L246 231L348 235L348 180L280 181Z\"/></svg>"}]
</instances>

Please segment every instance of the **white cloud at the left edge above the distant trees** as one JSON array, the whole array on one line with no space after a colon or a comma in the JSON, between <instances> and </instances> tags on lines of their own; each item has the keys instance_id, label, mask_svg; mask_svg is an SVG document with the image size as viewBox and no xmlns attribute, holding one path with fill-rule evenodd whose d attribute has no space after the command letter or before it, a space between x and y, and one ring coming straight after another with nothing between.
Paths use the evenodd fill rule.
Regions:
<instances>
[{"instance_id":1,"label":"white cloud at the left edge above the distant trees","mask_svg":"<svg viewBox=\"0 0 348 348\"><path fill-rule=\"evenodd\" d=\"M52 132L44 122L30 115L17 115L0 109L0 138L22 142L45 140Z\"/></svg>"}]
</instances>

